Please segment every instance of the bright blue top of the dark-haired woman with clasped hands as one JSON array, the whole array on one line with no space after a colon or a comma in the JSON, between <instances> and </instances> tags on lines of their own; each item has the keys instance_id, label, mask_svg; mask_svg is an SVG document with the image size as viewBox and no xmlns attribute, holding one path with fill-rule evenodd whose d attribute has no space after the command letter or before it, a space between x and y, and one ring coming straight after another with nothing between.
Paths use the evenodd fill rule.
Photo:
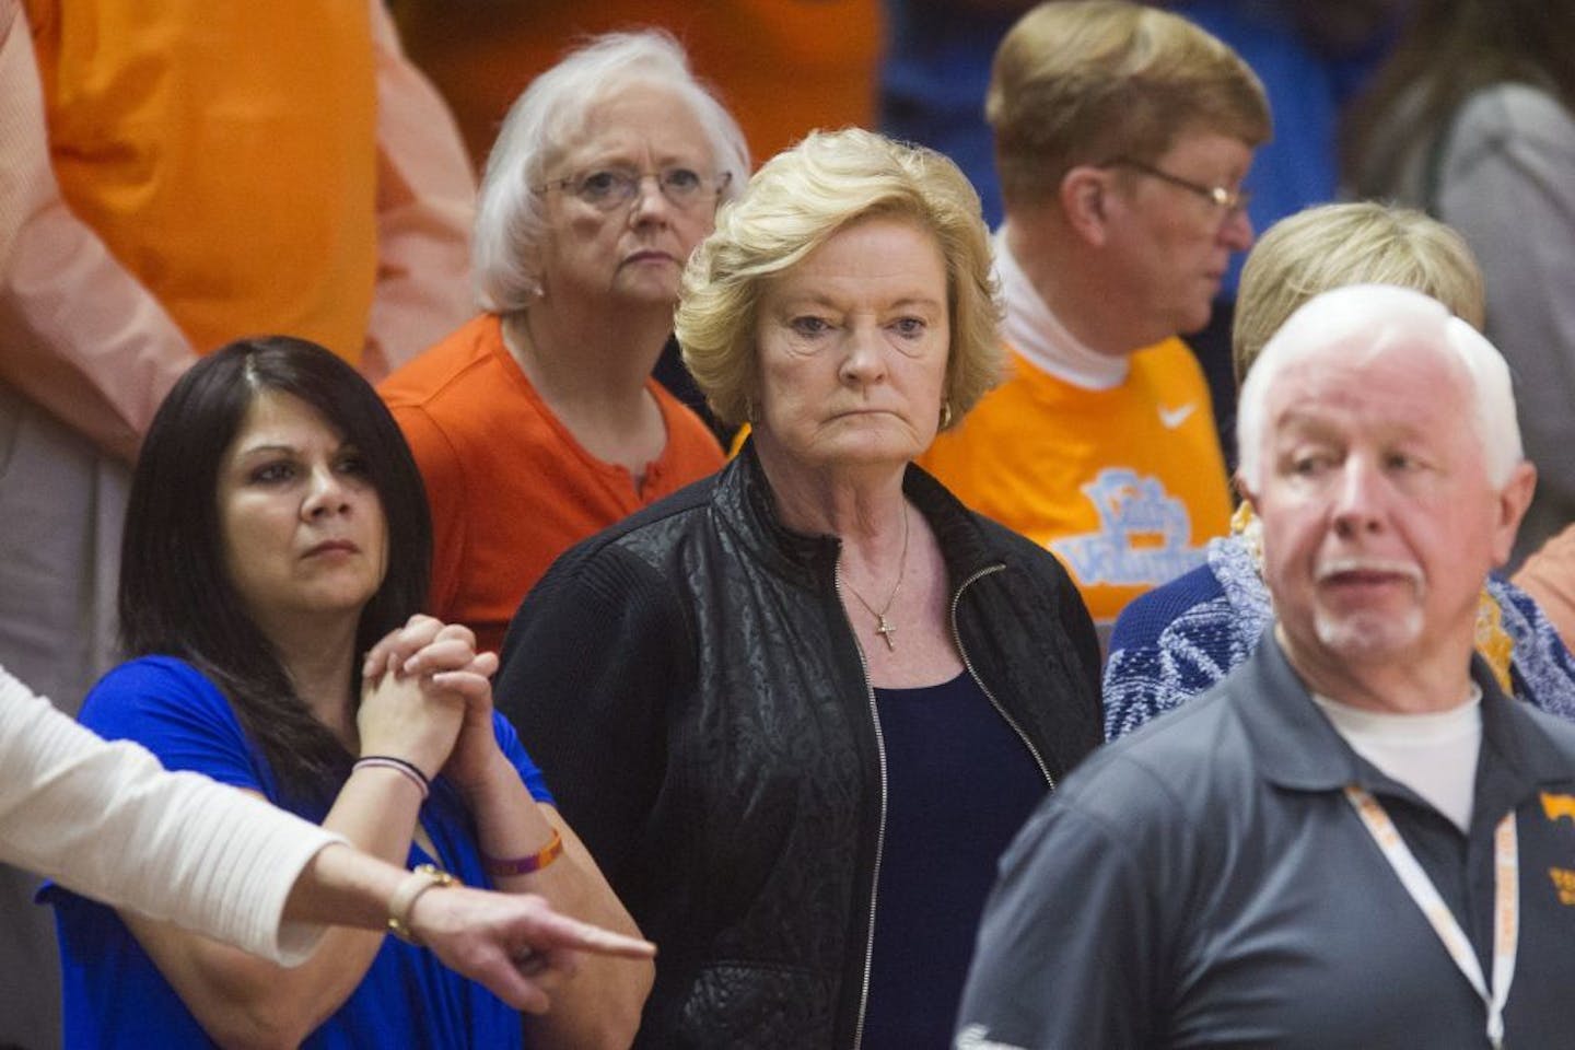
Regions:
<instances>
[{"instance_id":1,"label":"bright blue top of the dark-haired woman with clasped hands","mask_svg":"<svg viewBox=\"0 0 1575 1050\"><path fill-rule=\"evenodd\" d=\"M172 770L260 792L320 823L328 808L284 806L272 770L246 737L230 704L203 674L169 656L132 660L109 672L82 705L82 723L109 738L137 740ZM513 727L493 716L502 752L531 795L551 803L540 771ZM438 778L421 822L438 856L411 845L410 864L436 863L469 886L488 886L469 814ZM213 1047L197 1019L158 971L120 916L50 885L65 987L66 1047ZM304 1047L521 1047L520 1014L480 984L454 973L425 948L394 937L367 976Z\"/></svg>"}]
</instances>

